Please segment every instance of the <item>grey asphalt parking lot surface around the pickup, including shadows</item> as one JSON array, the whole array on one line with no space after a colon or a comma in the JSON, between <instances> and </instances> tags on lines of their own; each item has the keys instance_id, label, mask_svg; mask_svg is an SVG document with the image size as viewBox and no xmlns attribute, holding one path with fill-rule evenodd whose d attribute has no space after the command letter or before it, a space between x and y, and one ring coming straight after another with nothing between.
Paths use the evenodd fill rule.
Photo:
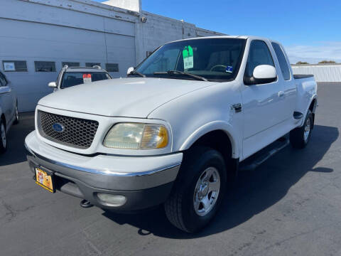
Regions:
<instances>
[{"instance_id":1,"label":"grey asphalt parking lot surface around the pickup, including shadows","mask_svg":"<svg viewBox=\"0 0 341 256\"><path fill-rule=\"evenodd\" d=\"M0 156L0 255L341 255L341 84L318 93L308 147L241 173L196 235L174 228L161 207L117 215L36 186L23 146L33 114L23 114Z\"/></svg>"}]
</instances>

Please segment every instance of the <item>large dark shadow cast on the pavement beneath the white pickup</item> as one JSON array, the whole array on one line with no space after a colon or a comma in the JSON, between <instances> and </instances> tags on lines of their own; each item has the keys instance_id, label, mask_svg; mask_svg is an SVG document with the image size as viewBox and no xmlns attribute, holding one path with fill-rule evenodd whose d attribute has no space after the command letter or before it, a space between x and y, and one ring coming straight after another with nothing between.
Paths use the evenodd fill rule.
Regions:
<instances>
[{"instance_id":1,"label":"large dark shadow cast on the pavement beneath the white pickup","mask_svg":"<svg viewBox=\"0 0 341 256\"><path fill-rule=\"evenodd\" d=\"M332 172L332 169L323 166L314 168L314 166L323 159L330 145L338 137L337 127L315 125L310 142L305 149L298 150L287 146L254 171L240 172L237 181L224 198L224 203L215 219L207 228L194 235L173 227L161 206L136 215L120 215L109 211L105 211L103 215L120 225L129 224L139 228L139 235L153 234L163 238L192 239L221 233L273 206L286 196L291 186L308 171L325 175ZM319 165L323 165L323 161ZM278 221L281 221L280 216Z\"/></svg>"}]
</instances>

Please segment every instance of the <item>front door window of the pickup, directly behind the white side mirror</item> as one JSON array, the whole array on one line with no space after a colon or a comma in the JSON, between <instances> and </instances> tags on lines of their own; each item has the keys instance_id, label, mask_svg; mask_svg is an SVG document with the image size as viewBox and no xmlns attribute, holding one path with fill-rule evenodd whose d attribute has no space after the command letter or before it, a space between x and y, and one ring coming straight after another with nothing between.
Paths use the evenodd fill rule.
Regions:
<instances>
[{"instance_id":1,"label":"front door window of the pickup, directly behind the white side mirror","mask_svg":"<svg viewBox=\"0 0 341 256\"><path fill-rule=\"evenodd\" d=\"M245 75L251 78L254 73L254 68L256 68L258 65L275 66L269 47L266 45L266 43L261 40L254 40L251 42Z\"/></svg>"}]
</instances>

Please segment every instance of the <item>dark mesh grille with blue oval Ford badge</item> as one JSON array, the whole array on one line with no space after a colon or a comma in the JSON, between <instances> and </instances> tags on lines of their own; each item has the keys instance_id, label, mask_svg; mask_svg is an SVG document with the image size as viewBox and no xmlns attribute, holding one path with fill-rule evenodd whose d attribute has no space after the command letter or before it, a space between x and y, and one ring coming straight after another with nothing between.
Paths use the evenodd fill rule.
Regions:
<instances>
[{"instance_id":1,"label":"dark mesh grille with blue oval Ford badge","mask_svg":"<svg viewBox=\"0 0 341 256\"><path fill-rule=\"evenodd\" d=\"M57 131L54 126L63 127ZM78 149L88 149L97 132L98 122L75 117L65 117L38 110L38 131L53 142Z\"/></svg>"}]
</instances>

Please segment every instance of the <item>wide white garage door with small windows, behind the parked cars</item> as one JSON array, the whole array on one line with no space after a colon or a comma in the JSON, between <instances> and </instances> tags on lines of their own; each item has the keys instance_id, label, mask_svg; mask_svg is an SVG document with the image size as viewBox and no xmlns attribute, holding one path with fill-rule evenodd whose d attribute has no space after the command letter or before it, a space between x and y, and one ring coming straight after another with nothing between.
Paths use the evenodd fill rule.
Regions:
<instances>
[{"instance_id":1,"label":"wide white garage door with small windows, behind the parked cars","mask_svg":"<svg viewBox=\"0 0 341 256\"><path fill-rule=\"evenodd\" d=\"M63 62L80 63L81 66L100 63L103 68L107 63L117 64L109 65L117 67L111 73L115 78L125 76L126 69L136 65L134 23L93 17L102 21L105 33L0 18L1 70L3 61L8 60L23 60L27 65L25 72L5 72L17 92L19 111L34 110L38 100L52 92L48 82L56 80ZM117 33L120 29L124 35ZM35 61L53 62L55 70L37 72Z\"/></svg>"}]
</instances>

